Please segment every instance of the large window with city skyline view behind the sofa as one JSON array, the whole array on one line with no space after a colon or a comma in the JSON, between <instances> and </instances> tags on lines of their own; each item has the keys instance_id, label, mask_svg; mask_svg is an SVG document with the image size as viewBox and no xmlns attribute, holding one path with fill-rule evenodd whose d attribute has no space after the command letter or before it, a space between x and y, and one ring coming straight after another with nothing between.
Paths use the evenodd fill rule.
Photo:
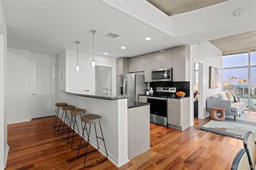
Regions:
<instances>
[{"instance_id":1,"label":"large window with city skyline view behind the sofa","mask_svg":"<svg viewBox=\"0 0 256 170\"><path fill-rule=\"evenodd\" d=\"M222 81L228 83L222 91L240 96L246 109L256 110L256 52L224 55L222 68Z\"/></svg>"}]
</instances>

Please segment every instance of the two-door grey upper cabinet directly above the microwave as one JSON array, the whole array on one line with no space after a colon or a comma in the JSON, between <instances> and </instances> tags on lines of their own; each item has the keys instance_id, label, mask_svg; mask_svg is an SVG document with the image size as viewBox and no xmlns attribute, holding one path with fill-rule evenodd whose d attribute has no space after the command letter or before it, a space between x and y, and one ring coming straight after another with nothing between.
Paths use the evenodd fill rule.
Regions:
<instances>
[{"instance_id":1,"label":"two-door grey upper cabinet directly above the microwave","mask_svg":"<svg viewBox=\"0 0 256 170\"><path fill-rule=\"evenodd\" d=\"M153 53L153 69L172 67L172 49Z\"/></svg>"}]
</instances>

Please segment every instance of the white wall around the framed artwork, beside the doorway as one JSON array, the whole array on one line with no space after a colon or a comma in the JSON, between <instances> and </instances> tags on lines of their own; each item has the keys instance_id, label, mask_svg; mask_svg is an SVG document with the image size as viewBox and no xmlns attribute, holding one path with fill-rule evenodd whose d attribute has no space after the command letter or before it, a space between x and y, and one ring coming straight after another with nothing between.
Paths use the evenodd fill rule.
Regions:
<instances>
[{"instance_id":1,"label":"white wall around the framed artwork, beside the doorway","mask_svg":"<svg viewBox=\"0 0 256 170\"><path fill-rule=\"evenodd\" d=\"M199 44L191 45L190 46L190 77L193 75L193 59L196 61L200 61L203 63L203 96L200 95L203 99L203 115L202 117L198 117L200 119L204 119L205 117L208 117L208 114L206 112L206 98L214 93L221 92L222 91L222 51L212 45L210 42L202 42ZM219 68L219 87L214 89L209 89L209 67L213 66L216 68ZM190 89L192 89L192 78L191 79L191 86ZM192 92L190 92L190 95ZM193 94L192 94L193 95ZM191 96L192 96L191 95Z\"/></svg>"}]
</instances>

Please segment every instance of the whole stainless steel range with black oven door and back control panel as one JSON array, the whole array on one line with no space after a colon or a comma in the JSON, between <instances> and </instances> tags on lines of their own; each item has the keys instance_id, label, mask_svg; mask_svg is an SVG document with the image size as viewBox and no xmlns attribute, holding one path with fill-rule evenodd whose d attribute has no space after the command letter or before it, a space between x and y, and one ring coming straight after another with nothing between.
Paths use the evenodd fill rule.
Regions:
<instances>
[{"instance_id":1,"label":"whole stainless steel range with black oven door and back control panel","mask_svg":"<svg viewBox=\"0 0 256 170\"><path fill-rule=\"evenodd\" d=\"M155 95L147 97L150 103L150 122L167 127L167 97L176 97L175 93L176 87L157 87Z\"/></svg>"}]
</instances>

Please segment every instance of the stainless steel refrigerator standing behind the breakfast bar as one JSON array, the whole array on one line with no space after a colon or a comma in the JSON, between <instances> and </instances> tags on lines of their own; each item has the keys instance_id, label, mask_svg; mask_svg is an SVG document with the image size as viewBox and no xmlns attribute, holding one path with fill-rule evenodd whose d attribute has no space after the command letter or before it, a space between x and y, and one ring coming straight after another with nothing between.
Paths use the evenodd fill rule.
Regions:
<instances>
[{"instance_id":1,"label":"stainless steel refrigerator standing behind the breakfast bar","mask_svg":"<svg viewBox=\"0 0 256 170\"><path fill-rule=\"evenodd\" d=\"M131 95L128 100L139 101L139 94L145 94L148 89L148 83L144 82L144 75L140 74L121 74L120 75L120 93Z\"/></svg>"}]
</instances>

